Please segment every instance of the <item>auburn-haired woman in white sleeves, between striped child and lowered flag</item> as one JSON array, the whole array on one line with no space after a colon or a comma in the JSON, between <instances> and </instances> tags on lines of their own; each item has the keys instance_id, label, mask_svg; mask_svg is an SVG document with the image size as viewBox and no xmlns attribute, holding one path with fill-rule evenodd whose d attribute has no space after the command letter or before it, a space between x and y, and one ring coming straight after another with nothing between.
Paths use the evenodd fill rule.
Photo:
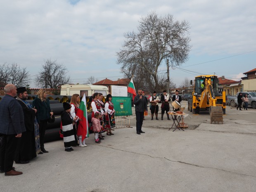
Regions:
<instances>
[{"instance_id":1,"label":"auburn-haired woman in white sleeves, between striped child and lowered flag","mask_svg":"<svg viewBox=\"0 0 256 192\"><path fill-rule=\"evenodd\" d=\"M79 97L79 94L73 94L72 97L71 97L71 102L70 102L70 105L71 105L71 111L70 111L70 114L73 118L77 117L76 116L76 112L79 108L79 104L80 104L80 97ZM77 128L78 128L78 120L79 120L79 117L77 118L77 120L75 121L75 124L73 126L73 130L74 130L74 136L75 136L75 140L76 140L76 145L78 145L77 143L77 135L76 135L76 132L77 132ZM80 138L81 136L79 136ZM82 140L82 137L81 139ZM79 143L80 143L80 140L79 140Z\"/></svg>"}]
</instances>

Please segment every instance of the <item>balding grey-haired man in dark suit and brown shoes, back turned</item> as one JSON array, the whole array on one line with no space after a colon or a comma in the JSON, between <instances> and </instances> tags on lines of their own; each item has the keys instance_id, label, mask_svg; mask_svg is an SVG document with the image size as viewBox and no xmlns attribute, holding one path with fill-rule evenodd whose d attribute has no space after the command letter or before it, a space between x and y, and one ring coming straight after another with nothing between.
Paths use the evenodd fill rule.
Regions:
<instances>
[{"instance_id":1,"label":"balding grey-haired man in dark suit and brown shoes, back turned","mask_svg":"<svg viewBox=\"0 0 256 192\"><path fill-rule=\"evenodd\" d=\"M13 167L14 152L17 147L17 138L26 131L21 105L14 98L17 89L13 84L5 85L5 97L0 102L0 134L3 137L0 147L0 173L6 176L21 175Z\"/></svg>"}]
</instances>

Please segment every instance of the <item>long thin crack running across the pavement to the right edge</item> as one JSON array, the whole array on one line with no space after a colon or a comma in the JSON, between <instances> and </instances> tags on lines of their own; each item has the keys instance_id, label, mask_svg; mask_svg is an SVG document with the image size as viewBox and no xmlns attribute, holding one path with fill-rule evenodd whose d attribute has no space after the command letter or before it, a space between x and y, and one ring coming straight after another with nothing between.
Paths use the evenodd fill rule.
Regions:
<instances>
[{"instance_id":1,"label":"long thin crack running across the pavement to the right edge","mask_svg":"<svg viewBox=\"0 0 256 192\"><path fill-rule=\"evenodd\" d=\"M149 156L151 158L166 159L166 160L174 162L174 163L181 163L181 164L186 164L186 165L191 165L191 166L196 166L196 167L201 167L201 168L211 168L211 169L215 169L215 170L218 170L218 171L225 171L225 172L228 172L228 173L235 173L235 174L238 174L238 175L244 175L244 176L250 176L250 177L256 178L256 176L254 176L254 175L247 175L247 174L237 173L237 172L233 172L233 171L226 171L224 169L213 168L213 167L199 166L199 165L196 165L196 164L190 164L190 163L186 163L186 162L183 162L183 161L173 161L171 159L167 159L166 157L151 156L151 155L148 155L148 154L141 154L141 153L137 153L137 152L130 152L130 151L126 151L126 150L123 150L123 149L116 149L114 147L108 147L108 146L103 146L103 145L99 145L99 144L91 144L91 145L97 145L97 146L100 146L100 147L106 147L106 148L110 148L110 149L114 149L114 150L118 150L118 151L122 151L122 152L128 152L128 153L139 154L139 155L145 155L145 156Z\"/></svg>"}]
</instances>

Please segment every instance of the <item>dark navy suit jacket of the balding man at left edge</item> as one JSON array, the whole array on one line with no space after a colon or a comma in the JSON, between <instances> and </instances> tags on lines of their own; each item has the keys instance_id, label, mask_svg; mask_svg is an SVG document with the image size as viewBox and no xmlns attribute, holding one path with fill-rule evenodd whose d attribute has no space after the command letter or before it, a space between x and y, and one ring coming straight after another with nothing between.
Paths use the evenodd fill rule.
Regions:
<instances>
[{"instance_id":1,"label":"dark navy suit jacket of the balding man at left edge","mask_svg":"<svg viewBox=\"0 0 256 192\"><path fill-rule=\"evenodd\" d=\"M26 128L21 105L11 95L5 95L0 102L0 133L17 135L24 131Z\"/></svg>"}]
</instances>

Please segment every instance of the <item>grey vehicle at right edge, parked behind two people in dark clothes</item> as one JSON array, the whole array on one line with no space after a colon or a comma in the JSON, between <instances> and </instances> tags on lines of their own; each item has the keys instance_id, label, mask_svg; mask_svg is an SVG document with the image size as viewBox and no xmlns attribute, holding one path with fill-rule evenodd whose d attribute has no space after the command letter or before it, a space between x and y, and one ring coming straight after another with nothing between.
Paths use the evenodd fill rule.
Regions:
<instances>
[{"instance_id":1,"label":"grey vehicle at right edge, parked behind two people in dark clothes","mask_svg":"<svg viewBox=\"0 0 256 192\"><path fill-rule=\"evenodd\" d=\"M256 92L242 92L243 97L245 94L247 94L247 97L249 99L248 106L251 106L253 109L256 109ZM227 96L226 104L231 105L231 107L236 107L237 95Z\"/></svg>"}]
</instances>

